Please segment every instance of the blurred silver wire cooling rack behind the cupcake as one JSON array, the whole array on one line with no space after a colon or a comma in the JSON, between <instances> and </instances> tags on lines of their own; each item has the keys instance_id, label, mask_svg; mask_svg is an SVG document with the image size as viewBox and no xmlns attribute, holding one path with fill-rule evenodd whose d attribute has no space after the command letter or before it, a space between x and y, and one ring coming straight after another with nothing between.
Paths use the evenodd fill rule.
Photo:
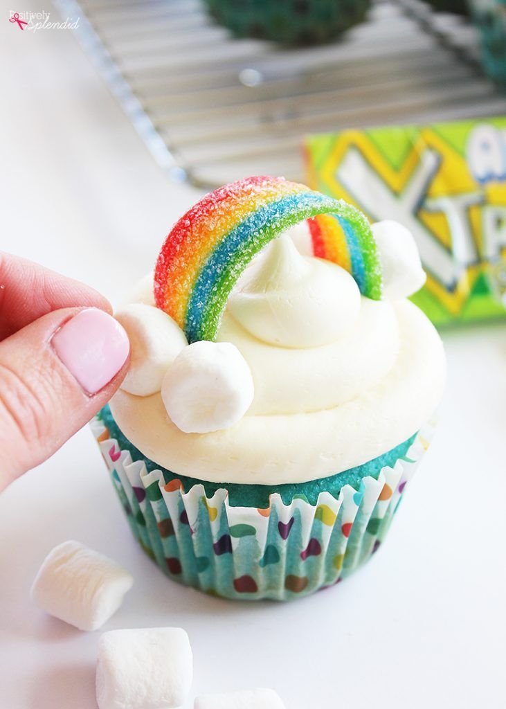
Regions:
<instances>
[{"instance_id":1,"label":"blurred silver wire cooling rack behind the cupcake","mask_svg":"<svg viewBox=\"0 0 506 709\"><path fill-rule=\"evenodd\" d=\"M309 133L506 113L468 21L377 0L330 45L234 39L200 0L55 0L173 179L303 179Z\"/></svg>"}]
</instances>

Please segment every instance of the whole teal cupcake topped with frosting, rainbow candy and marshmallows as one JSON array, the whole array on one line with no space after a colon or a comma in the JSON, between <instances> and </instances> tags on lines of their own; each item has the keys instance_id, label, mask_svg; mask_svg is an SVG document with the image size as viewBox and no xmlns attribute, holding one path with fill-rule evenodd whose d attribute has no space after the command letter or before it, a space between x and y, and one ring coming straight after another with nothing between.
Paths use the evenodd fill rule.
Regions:
<instances>
[{"instance_id":1,"label":"whole teal cupcake topped with frosting, rainbow candy and marshmallows","mask_svg":"<svg viewBox=\"0 0 506 709\"><path fill-rule=\"evenodd\" d=\"M175 581L288 600L376 552L427 449L442 342L410 233L282 178L205 196L116 313L132 361L93 422Z\"/></svg>"}]
</instances>

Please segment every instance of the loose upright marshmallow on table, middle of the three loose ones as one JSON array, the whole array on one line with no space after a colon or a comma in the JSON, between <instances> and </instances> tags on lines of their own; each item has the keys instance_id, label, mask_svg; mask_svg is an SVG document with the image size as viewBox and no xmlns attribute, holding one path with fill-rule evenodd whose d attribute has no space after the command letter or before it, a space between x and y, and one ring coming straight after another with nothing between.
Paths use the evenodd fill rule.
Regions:
<instances>
[{"instance_id":1,"label":"loose upright marshmallow on table, middle of the three loose ones","mask_svg":"<svg viewBox=\"0 0 506 709\"><path fill-rule=\"evenodd\" d=\"M99 640L99 709L172 709L191 688L193 657L179 627L111 630Z\"/></svg>"}]
</instances>

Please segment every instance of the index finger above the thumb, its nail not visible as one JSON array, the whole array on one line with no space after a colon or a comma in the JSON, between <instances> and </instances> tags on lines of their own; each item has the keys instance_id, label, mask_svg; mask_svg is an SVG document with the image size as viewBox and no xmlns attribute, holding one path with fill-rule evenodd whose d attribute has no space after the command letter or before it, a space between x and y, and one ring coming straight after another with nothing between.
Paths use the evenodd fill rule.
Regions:
<instances>
[{"instance_id":1,"label":"index finger above the thumb, its nail not visible","mask_svg":"<svg viewBox=\"0 0 506 709\"><path fill-rule=\"evenodd\" d=\"M90 306L111 313L111 303L84 283L0 251L0 340L60 308Z\"/></svg>"}]
</instances>

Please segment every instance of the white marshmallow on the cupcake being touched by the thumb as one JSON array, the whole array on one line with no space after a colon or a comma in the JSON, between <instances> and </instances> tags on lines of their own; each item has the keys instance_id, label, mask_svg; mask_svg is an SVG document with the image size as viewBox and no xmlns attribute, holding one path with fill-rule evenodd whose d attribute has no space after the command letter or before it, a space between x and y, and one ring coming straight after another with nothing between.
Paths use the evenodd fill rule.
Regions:
<instances>
[{"instance_id":1,"label":"white marshmallow on the cupcake being touched by the thumb","mask_svg":"<svg viewBox=\"0 0 506 709\"><path fill-rule=\"evenodd\" d=\"M136 396L160 391L169 366L188 345L167 313L145 303L130 303L115 313L130 340L130 368L121 389Z\"/></svg>"}]
</instances>

